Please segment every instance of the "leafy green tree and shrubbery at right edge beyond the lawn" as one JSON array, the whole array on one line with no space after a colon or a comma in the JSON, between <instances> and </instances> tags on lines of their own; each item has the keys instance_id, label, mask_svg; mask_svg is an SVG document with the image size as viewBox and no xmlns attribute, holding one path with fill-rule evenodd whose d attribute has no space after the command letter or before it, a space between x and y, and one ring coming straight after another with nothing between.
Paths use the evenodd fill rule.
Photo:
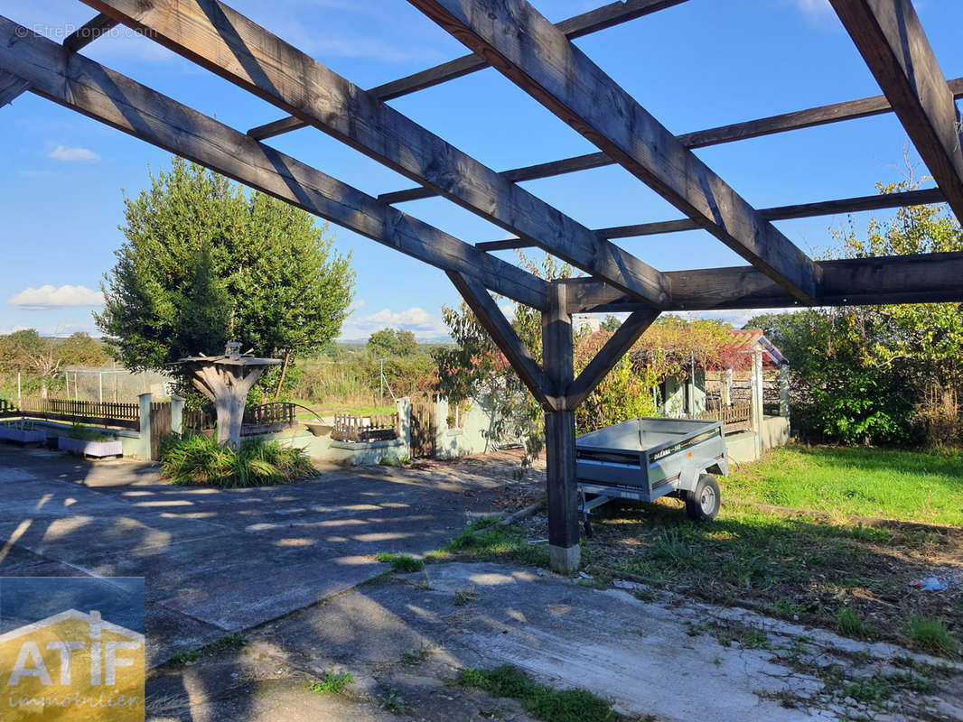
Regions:
<instances>
[{"instance_id":1,"label":"leafy green tree and shrubbery at right edge beyond the lawn","mask_svg":"<svg viewBox=\"0 0 963 722\"><path fill-rule=\"evenodd\" d=\"M917 188L912 179L879 193ZM911 206L872 219L865 234L850 222L833 233L830 258L963 250L963 229L946 206ZM959 442L963 393L963 306L913 303L809 310L756 317L790 359L794 418L844 443L923 437Z\"/></svg>"}]
</instances>

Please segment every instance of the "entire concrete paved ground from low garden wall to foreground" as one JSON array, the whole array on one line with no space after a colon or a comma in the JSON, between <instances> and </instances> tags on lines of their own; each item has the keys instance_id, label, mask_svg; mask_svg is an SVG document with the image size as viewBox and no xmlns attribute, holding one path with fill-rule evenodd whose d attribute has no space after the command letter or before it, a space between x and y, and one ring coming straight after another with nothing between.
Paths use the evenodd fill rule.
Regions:
<instances>
[{"instance_id":1,"label":"entire concrete paved ground from low garden wall to foreground","mask_svg":"<svg viewBox=\"0 0 963 722\"><path fill-rule=\"evenodd\" d=\"M517 702L451 683L506 663L630 719L963 718L963 664L914 656L928 676L883 705L850 690L903 679L903 650L634 582L447 562L362 583L383 571L375 554L437 549L531 492L512 469L489 456L217 491L170 486L148 464L0 446L0 576L143 576L151 722L381 722L395 717L386 700L423 720L527 721ZM731 642L738 630L752 643ZM156 666L242 631L245 646ZM351 673L349 693L310 690L330 669Z\"/></svg>"}]
</instances>

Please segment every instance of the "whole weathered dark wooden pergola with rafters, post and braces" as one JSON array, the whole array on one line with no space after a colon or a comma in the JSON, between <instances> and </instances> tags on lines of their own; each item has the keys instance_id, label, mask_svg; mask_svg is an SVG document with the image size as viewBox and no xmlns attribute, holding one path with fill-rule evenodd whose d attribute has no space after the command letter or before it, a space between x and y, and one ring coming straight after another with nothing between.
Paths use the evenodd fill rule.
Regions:
<instances>
[{"instance_id":1,"label":"whole weathered dark wooden pergola with rafters, post and braces","mask_svg":"<svg viewBox=\"0 0 963 722\"><path fill-rule=\"evenodd\" d=\"M770 221L947 202L963 219L963 153L955 98L911 0L830 0L882 95L673 136L572 43L684 0L625 0L552 24L526 0L409 0L471 54L362 90L218 0L83 0L97 14L63 44L0 17L0 106L24 91L189 158L251 188L445 271L545 409L552 566L575 569L579 527L573 410L661 312L963 300L963 253L814 261ZM129 26L286 116L247 132L204 116L80 54ZM106 40L105 40L106 41ZM599 152L496 172L386 104L491 65ZM937 189L756 209L693 148L849 118L896 113ZM310 168L266 141L313 126L410 178L378 197ZM589 229L517 185L617 164L684 219ZM515 240L470 245L392 204L440 195ZM658 271L612 239L703 228L745 266ZM585 271L548 281L489 251L536 246ZM539 366L489 292L542 313ZM631 312L577 378L572 315Z\"/></svg>"}]
</instances>

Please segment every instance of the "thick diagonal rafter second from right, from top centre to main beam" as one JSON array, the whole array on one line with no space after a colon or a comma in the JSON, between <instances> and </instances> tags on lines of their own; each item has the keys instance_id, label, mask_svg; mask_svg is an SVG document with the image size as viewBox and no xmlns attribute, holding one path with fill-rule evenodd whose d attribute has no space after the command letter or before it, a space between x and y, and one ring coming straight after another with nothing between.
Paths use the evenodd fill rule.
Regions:
<instances>
[{"instance_id":1,"label":"thick diagonal rafter second from right, from top centre to main beam","mask_svg":"<svg viewBox=\"0 0 963 722\"><path fill-rule=\"evenodd\" d=\"M804 303L812 260L525 0L409 0Z\"/></svg>"}]
</instances>

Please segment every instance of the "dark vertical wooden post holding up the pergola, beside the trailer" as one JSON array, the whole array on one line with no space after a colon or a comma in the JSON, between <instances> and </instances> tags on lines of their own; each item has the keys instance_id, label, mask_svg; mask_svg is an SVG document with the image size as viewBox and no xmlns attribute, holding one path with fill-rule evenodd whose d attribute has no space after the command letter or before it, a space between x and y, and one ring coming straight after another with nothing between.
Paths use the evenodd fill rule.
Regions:
<instances>
[{"instance_id":1,"label":"dark vertical wooden post holding up the pergola, beside the trailer","mask_svg":"<svg viewBox=\"0 0 963 722\"><path fill-rule=\"evenodd\" d=\"M572 354L572 317L565 308L565 286L552 284L548 311L542 313L542 359L557 398L565 396L564 390L575 375ZM582 550L575 476L575 411L567 404L545 411L545 461L549 566L559 574L572 574L582 561Z\"/></svg>"}]
</instances>

